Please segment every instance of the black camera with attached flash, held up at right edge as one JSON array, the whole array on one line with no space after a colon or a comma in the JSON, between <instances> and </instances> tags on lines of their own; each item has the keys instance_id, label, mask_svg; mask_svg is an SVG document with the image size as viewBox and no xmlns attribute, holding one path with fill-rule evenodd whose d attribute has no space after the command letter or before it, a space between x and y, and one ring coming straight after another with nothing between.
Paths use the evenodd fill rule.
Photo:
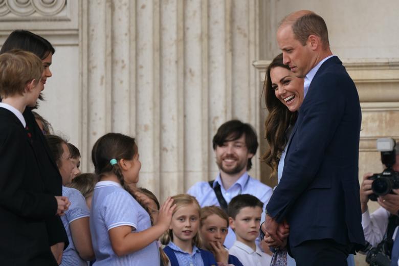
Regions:
<instances>
[{"instance_id":1,"label":"black camera with attached flash, held up at right edge","mask_svg":"<svg viewBox=\"0 0 399 266\"><path fill-rule=\"evenodd\" d=\"M373 180L371 184L373 194L369 195L371 201L376 201L378 196L393 193L392 189L399 188L399 172L392 169L396 159L395 145L396 142L393 139L377 140L377 149L381 151L381 162L387 168L382 173L374 173L369 178Z\"/></svg>"}]
</instances>

